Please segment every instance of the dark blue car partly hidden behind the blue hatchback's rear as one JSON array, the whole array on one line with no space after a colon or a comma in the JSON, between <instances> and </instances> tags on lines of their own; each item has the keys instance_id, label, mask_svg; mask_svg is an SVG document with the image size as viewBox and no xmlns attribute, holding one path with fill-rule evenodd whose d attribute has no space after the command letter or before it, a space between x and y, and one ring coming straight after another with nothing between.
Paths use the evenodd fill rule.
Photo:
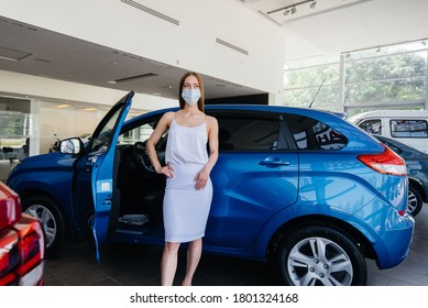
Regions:
<instances>
[{"instance_id":1,"label":"dark blue car partly hidden behind the blue hatchback's rear","mask_svg":"<svg viewBox=\"0 0 428 308\"><path fill-rule=\"evenodd\" d=\"M428 154L386 136L373 136L405 160L409 180L408 209L414 217L417 216L428 202Z\"/></svg>"}]
</instances>

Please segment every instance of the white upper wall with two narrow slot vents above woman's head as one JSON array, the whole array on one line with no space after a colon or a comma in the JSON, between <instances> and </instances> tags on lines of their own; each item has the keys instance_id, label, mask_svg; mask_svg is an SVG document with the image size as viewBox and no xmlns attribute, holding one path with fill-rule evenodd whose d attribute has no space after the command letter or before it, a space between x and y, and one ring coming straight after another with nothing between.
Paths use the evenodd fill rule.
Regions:
<instances>
[{"instance_id":1,"label":"white upper wall with two narrow slot vents above woman's head","mask_svg":"<svg viewBox=\"0 0 428 308\"><path fill-rule=\"evenodd\" d=\"M1 14L35 26L281 97L284 34L234 0L134 0L172 24L120 0L0 0ZM221 38L249 52L216 43Z\"/></svg>"}]
</instances>

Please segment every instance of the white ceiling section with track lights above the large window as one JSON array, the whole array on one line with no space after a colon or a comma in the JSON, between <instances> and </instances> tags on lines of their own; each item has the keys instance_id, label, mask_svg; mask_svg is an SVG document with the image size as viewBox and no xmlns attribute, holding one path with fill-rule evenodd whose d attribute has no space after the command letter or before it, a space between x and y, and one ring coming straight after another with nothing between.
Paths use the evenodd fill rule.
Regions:
<instances>
[{"instance_id":1,"label":"white ceiling section with track lights above the large window","mask_svg":"<svg viewBox=\"0 0 428 308\"><path fill-rule=\"evenodd\" d=\"M238 1L284 30L286 61L428 37L427 0ZM293 4L294 14L278 10Z\"/></svg>"}]
</instances>

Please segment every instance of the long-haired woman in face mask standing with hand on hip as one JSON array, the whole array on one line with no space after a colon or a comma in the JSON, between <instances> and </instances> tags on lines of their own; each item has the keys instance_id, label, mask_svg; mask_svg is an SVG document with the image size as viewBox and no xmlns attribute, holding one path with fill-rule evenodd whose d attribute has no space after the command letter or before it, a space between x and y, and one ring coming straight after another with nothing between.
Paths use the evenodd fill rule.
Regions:
<instances>
[{"instance_id":1,"label":"long-haired woman in face mask standing with hand on hip","mask_svg":"<svg viewBox=\"0 0 428 308\"><path fill-rule=\"evenodd\" d=\"M161 262L161 284L173 285L180 243L188 242L184 286L191 285L198 266L202 237L212 199L210 173L218 158L218 122L204 113L202 80L186 73L179 82L177 112L166 112L147 141L147 152L157 174L164 174L165 246ZM162 166L155 146L169 130ZM207 143L209 153L207 152Z\"/></svg>"}]
</instances>

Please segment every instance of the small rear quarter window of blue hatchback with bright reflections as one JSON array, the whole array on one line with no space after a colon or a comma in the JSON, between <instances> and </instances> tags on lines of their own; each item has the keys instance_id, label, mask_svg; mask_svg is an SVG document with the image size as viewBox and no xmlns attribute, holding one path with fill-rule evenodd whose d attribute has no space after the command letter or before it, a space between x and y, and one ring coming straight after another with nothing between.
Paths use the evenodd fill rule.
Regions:
<instances>
[{"instance_id":1,"label":"small rear quarter window of blue hatchback with bright reflections","mask_svg":"<svg viewBox=\"0 0 428 308\"><path fill-rule=\"evenodd\" d=\"M340 150L348 143L345 135L317 119L299 114L285 118L299 150Z\"/></svg>"}]
</instances>

